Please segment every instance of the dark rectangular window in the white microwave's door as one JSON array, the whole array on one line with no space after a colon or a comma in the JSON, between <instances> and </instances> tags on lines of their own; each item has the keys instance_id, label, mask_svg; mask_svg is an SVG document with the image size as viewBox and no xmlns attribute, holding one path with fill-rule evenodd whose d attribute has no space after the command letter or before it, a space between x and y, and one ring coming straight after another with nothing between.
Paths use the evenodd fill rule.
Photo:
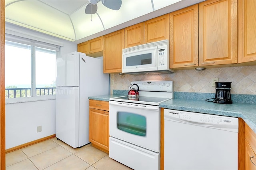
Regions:
<instances>
[{"instance_id":1,"label":"dark rectangular window in the white microwave's door","mask_svg":"<svg viewBox=\"0 0 256 170\"><path fill-rule=\"evenodd\" d=\"M141 66L152 64L152 53L140 54L126 58L126 66Z\"/></svg>"}]
</instances>

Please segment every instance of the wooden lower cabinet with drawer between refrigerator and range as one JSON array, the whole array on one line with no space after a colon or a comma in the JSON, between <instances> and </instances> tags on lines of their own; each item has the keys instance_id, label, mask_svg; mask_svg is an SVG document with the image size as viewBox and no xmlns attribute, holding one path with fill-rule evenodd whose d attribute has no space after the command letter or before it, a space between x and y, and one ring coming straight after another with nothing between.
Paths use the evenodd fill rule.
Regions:
<instances>
[{"instance_id":1,"label":"wooden lower cabinet with drawer between refrigerator and range","mask_svg":"<svg viewBox=\"0 0 256 170\"><path fill-rule=\"evenodd\" d=\"M106 153L109 150L108 110L108 102L89 100L89 141L92 146Z\"/></svg>"}]
</instances>

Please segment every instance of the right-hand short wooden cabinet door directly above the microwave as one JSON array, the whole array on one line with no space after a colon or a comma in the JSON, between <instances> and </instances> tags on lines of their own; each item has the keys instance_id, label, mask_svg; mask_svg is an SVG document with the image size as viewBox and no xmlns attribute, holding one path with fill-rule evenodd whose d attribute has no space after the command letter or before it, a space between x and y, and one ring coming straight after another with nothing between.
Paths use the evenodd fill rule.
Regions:
<instances>
[{"instance_id":1,"label":"right-hand short wooden cabinet door directly above the microwave","mask_svg":"<svg viewBox=\"0 0 256 170\"><path fill-rule=\"evenodd\" d=\"M169 40L169 14L158 16L144 22L144 43Z\"/></svg>"}]
</instances>

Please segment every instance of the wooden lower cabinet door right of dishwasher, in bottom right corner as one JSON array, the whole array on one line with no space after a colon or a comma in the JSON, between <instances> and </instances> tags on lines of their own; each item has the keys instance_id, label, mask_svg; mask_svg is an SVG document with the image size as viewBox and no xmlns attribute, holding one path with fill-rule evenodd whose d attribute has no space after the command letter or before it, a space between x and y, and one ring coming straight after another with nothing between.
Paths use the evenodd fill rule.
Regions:
<instances>
[{"instance_id":1,"label":"wooden lower cabinet door right of dishwasher, in bottom right corner","mask_svg":"<svg viewBox=\"0 0 256 170\"><path fill-rule=\"evenodd\" d=\"M251 158L251 156L254 156L254 158ZM256 164L256 155L253 152L250 145L248 144L247 140L245 140L245 169L246 170L256 170L255 164Z\"/></svg>"}]
</instances>

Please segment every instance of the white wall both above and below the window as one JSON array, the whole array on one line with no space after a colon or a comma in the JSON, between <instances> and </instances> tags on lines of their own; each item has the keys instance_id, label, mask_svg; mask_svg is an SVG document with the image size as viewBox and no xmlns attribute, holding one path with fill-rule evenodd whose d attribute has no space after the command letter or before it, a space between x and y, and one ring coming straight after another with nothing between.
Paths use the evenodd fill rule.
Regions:
<instances>
[{"instance_id":1,"label":"white wall both above and below the window","mask_svg":"<svg viewBox=\"0 0 256 170\"><path fill-rule=\"evenodd\" d=\"M8 34L36 38L43 42L61 45L60 55L77 50L77 44L41 34L14 25L7 25ZM41 100L6 104L6 149L31 142L55 134L55 100ZM37 132L37 126L42 126L42 132Z\"/></svg>"}]
</instances>

